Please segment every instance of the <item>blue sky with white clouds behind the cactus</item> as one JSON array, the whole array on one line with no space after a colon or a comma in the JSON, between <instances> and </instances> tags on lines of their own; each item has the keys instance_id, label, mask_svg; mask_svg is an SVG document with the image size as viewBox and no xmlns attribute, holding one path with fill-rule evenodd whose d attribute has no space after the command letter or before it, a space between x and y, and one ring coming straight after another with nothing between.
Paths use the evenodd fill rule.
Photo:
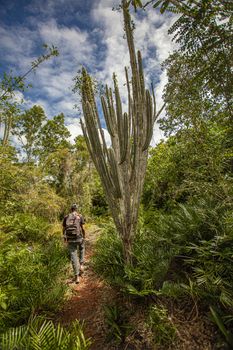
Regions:
<instances>
[{"instance_id":1,"label":"blue sky with white clouds behind the cactus","mask_svg":"<svg viewBox=\"0 0 233 350\"><path fill-rule=\"evenodd\" d=\"M122 95L124 66L129 65L123 20L112 7L119 0L0 0L0 74L13 70L23 74L41 54L42 44L58 47L59 57L44 62L27 82L33 88L23 97L24 107L41 105L48 117L66 116L72 137L80 133L78 102L72 89L72 78L82 65L102 83L111 84L112 73L118 77ZM160 64L173 50L167 30L174 22L169 15L149 9L137 16L133 13L136 48L144 59L145 75L156 83L158 107L166 73ZM162 134L155 127L153 142Z\"/></svg>"}]
</instances>

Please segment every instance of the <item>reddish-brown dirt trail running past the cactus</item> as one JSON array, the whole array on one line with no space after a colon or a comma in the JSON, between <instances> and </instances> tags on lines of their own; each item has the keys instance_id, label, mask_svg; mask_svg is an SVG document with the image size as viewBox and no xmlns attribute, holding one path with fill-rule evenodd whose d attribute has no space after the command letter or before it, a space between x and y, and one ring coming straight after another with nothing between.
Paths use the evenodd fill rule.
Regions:
<instances>
[{"instance_id":1,"label":"reddish-brown dirt trail running past the cactus","mask_svg":"<svg viewBox=\"0 0 233 350\"><path fill-rule=\"evenodd\" d=\"M86 230L84 274L79 284L70 284L72 296L58 315L58 322L69 325L78 319L84 321L84 333L92 339L91 350L108 349L103 330L103 304L111 298L111 290L96 276L90 267L90 258L98 237L98 228Z\"/></svg>"}]
</instances>

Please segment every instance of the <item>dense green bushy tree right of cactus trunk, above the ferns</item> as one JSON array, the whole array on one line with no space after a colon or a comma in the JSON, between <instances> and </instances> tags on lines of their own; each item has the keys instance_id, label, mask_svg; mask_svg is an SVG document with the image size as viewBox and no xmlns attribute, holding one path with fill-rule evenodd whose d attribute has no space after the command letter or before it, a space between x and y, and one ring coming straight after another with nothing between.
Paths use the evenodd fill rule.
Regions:
<instances>
[{"instance_id":1,"label":"dense green bushy tree right of cactus trunk, above the ferns","mask_svg":"<svg viewBox=\"0 0 233 350\"><path fill-rule=\"evenodd\" d=\"M198 135L194 128L185 129L152 148L143 191L144 208L169 212L177 203L230 197L232 179L226 163L225 138L225 128L209 122Z\"/></svg>"}]
</instances>

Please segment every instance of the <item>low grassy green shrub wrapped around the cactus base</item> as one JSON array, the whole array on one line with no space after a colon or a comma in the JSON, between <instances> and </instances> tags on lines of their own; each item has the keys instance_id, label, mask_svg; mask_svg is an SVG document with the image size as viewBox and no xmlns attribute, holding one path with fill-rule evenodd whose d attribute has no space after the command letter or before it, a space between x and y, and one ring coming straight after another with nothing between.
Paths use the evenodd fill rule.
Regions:
<instances>
[{"instance_id":1,"label":"low grassy green shrub wrapped around the cactus base","mask_svg":"<svg viewBox=\"0 0 233 350\"><path fill-rule=\"evenodd\" d=\"M162 282L169 267L171 249L165 239L159 239L159 234L141 230L134 241L134 263L127 265L122 242L114 227L109 225L97 241L93 265L110 284L126 293L144 296Z\"/></svg>"}]
</instances>

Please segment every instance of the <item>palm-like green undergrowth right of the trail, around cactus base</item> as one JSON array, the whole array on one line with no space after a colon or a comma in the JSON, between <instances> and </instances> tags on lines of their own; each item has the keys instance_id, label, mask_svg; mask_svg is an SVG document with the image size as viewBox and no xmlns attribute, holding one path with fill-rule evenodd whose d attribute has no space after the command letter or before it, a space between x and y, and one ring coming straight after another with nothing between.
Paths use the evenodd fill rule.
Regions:
<instances>
[{"instance_id":1,"label":"palm-like green undergrowth right of the trail, around cactus base","mask_svg":"<svg viewBox=\"0 0 233 350\"><path fill-rule=\"evenodd\" d=\"M154 302L161 297L187 299L206 311L217 307L224 327L231 332L233 237L229 206L202 199L178 205L172 213L155 213L155 218L153 229L151 222L145 223L135 236L132 265L124 263L122 241L114 227L106 227L93 257L95 271L125 296L149 307L149 324L159 333L155 342L171 343L176 333L169 315Z\"/></svg>"}]
</instances>

